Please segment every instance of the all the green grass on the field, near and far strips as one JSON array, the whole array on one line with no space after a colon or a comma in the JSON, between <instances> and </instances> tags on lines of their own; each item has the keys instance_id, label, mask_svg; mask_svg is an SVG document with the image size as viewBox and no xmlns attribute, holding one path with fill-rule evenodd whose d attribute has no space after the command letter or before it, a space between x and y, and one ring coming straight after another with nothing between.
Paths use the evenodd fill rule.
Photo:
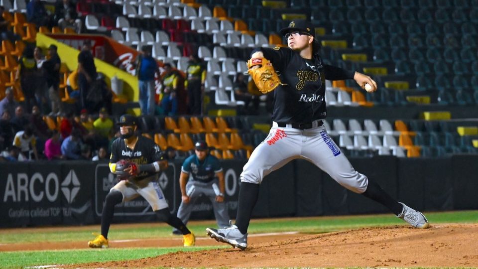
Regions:
<instances>
[{"instance_id":1,"label":"all the green grass on the field, near and far strips","mask_svg":"<svg viewBox=\"0 0 478 269\"><path fill-rule=\"evenodd\" d=\"M436 212L426 214L432 225L440 223L477 223L478 211ZM406 225L402 220L391 214L360 215L360 216L333 216L311 218L287 219L256 219L249 226L249 233L271 233L298 231L301 233L326 233L345 229L355 229L371 226ZM191 222L188 225L197 236L206 236L206 227L215 226L215 222ZM0 243L28 243L28 242L64 242L88 241L93 239L91 232L99 229L92 226L90 229L81 228L79 231L38 232L34 229L0 230ZM135 228L121 225L113 226L109 238L112 240L138 239L138 238L167 238L171 236L168 226L143 225ZM177 238L177 237L175 237ZM18 241L18 240L21 240ZM227 247L227 246L225 246ZM193 247L193 248L129 248L129 249L83 249L67 251L27 251L27 252L0 252L1 267L19 268L33 265L60 265L79 264L90 262L106 262L120 260L134 260L155 257L169 252L199 251L217 249L219 247Z\"/></svg>"}]
</instances>

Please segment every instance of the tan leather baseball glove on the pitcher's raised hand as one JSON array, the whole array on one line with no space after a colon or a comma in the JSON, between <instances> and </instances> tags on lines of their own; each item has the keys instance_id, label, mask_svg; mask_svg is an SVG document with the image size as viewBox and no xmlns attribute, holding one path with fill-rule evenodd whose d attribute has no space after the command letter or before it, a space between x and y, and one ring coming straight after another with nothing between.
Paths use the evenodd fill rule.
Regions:
<instances>
[{"instance_id":1,"label":"tan leather baseball glove on the pitcher's raised hand","mask_svg":"<svg viewBox=\"0 0 478 269\"><path fill-rule=\"evenodd\" d=\"M252 69L256 65L260 65L260 67ZM252 76L252 80L254 80L261 93L271 92L281 84L274 67L266 58L249 59L247 61L247 68L249 68L247 73Z\"/></svg>"}]
</instances>

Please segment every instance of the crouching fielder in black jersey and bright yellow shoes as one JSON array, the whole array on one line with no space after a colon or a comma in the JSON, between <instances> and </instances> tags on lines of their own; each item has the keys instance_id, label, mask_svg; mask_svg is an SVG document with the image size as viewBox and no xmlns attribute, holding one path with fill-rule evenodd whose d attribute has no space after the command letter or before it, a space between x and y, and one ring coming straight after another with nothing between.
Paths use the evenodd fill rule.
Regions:
<instances>
[{"instance_id":1,"label":"crouching fielder in black jersey and bright yellow shoes","mask_svg":"<svg viewBox=\"0 0 478 269\"><path fill-rule=\"evenodd\" d=\"M90 248L108 248L108 231L115 205L142 196L148 201L160 221L181 231L184 246L194 246L195 237L186 225L171 215L166 198L157 182L157 173L168 167L163 153L151 139L136 135L136 118L123 115L119 118L121 136L111 145L110 170L119 182L106 196L101 215L101 234L88 242Z\"/></svg>"}]
</instances>

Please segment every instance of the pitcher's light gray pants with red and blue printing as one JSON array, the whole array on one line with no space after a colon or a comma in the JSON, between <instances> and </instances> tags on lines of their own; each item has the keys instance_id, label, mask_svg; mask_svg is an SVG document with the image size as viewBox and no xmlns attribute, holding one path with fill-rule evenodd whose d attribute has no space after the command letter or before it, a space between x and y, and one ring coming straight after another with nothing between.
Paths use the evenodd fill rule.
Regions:
<instances>
[{"instance_id":1,"label":"pitcher's light gray pants with red and blue printing","mask_svg":"<svg viewBox=\"0 0 478 269\"><path fill-rule=\"evenodd\" d=\"M325 126L300 130L278 128L277 123L273 123L269 135L254 149L244 165L240 179L260 184L270 172L299 158L312 162L355 193L363 193L367 189L367 177L352 167L327 134Z\"/></svg>"}]
</instances>

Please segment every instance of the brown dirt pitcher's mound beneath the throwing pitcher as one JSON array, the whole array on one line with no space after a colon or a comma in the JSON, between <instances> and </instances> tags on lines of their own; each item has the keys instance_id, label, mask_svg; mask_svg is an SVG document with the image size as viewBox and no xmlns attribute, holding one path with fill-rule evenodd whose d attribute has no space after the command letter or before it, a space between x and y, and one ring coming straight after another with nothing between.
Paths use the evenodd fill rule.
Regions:
<instances>
[{"instance_id":1,"label":"brown dirt pitcher's mound beneath the throwing pitcher","mask_svg":"<svg viewBox=\"0 0 478 269\"><path fill-rule=\"evenodd\" d=\"M285 237L250 237L246 251L179 252L72 268L478 267L477 224L443 224L427 230L391 226ZM216 242L198 240L198 245L203 244Z\"/></svg>"}]
</instances>

